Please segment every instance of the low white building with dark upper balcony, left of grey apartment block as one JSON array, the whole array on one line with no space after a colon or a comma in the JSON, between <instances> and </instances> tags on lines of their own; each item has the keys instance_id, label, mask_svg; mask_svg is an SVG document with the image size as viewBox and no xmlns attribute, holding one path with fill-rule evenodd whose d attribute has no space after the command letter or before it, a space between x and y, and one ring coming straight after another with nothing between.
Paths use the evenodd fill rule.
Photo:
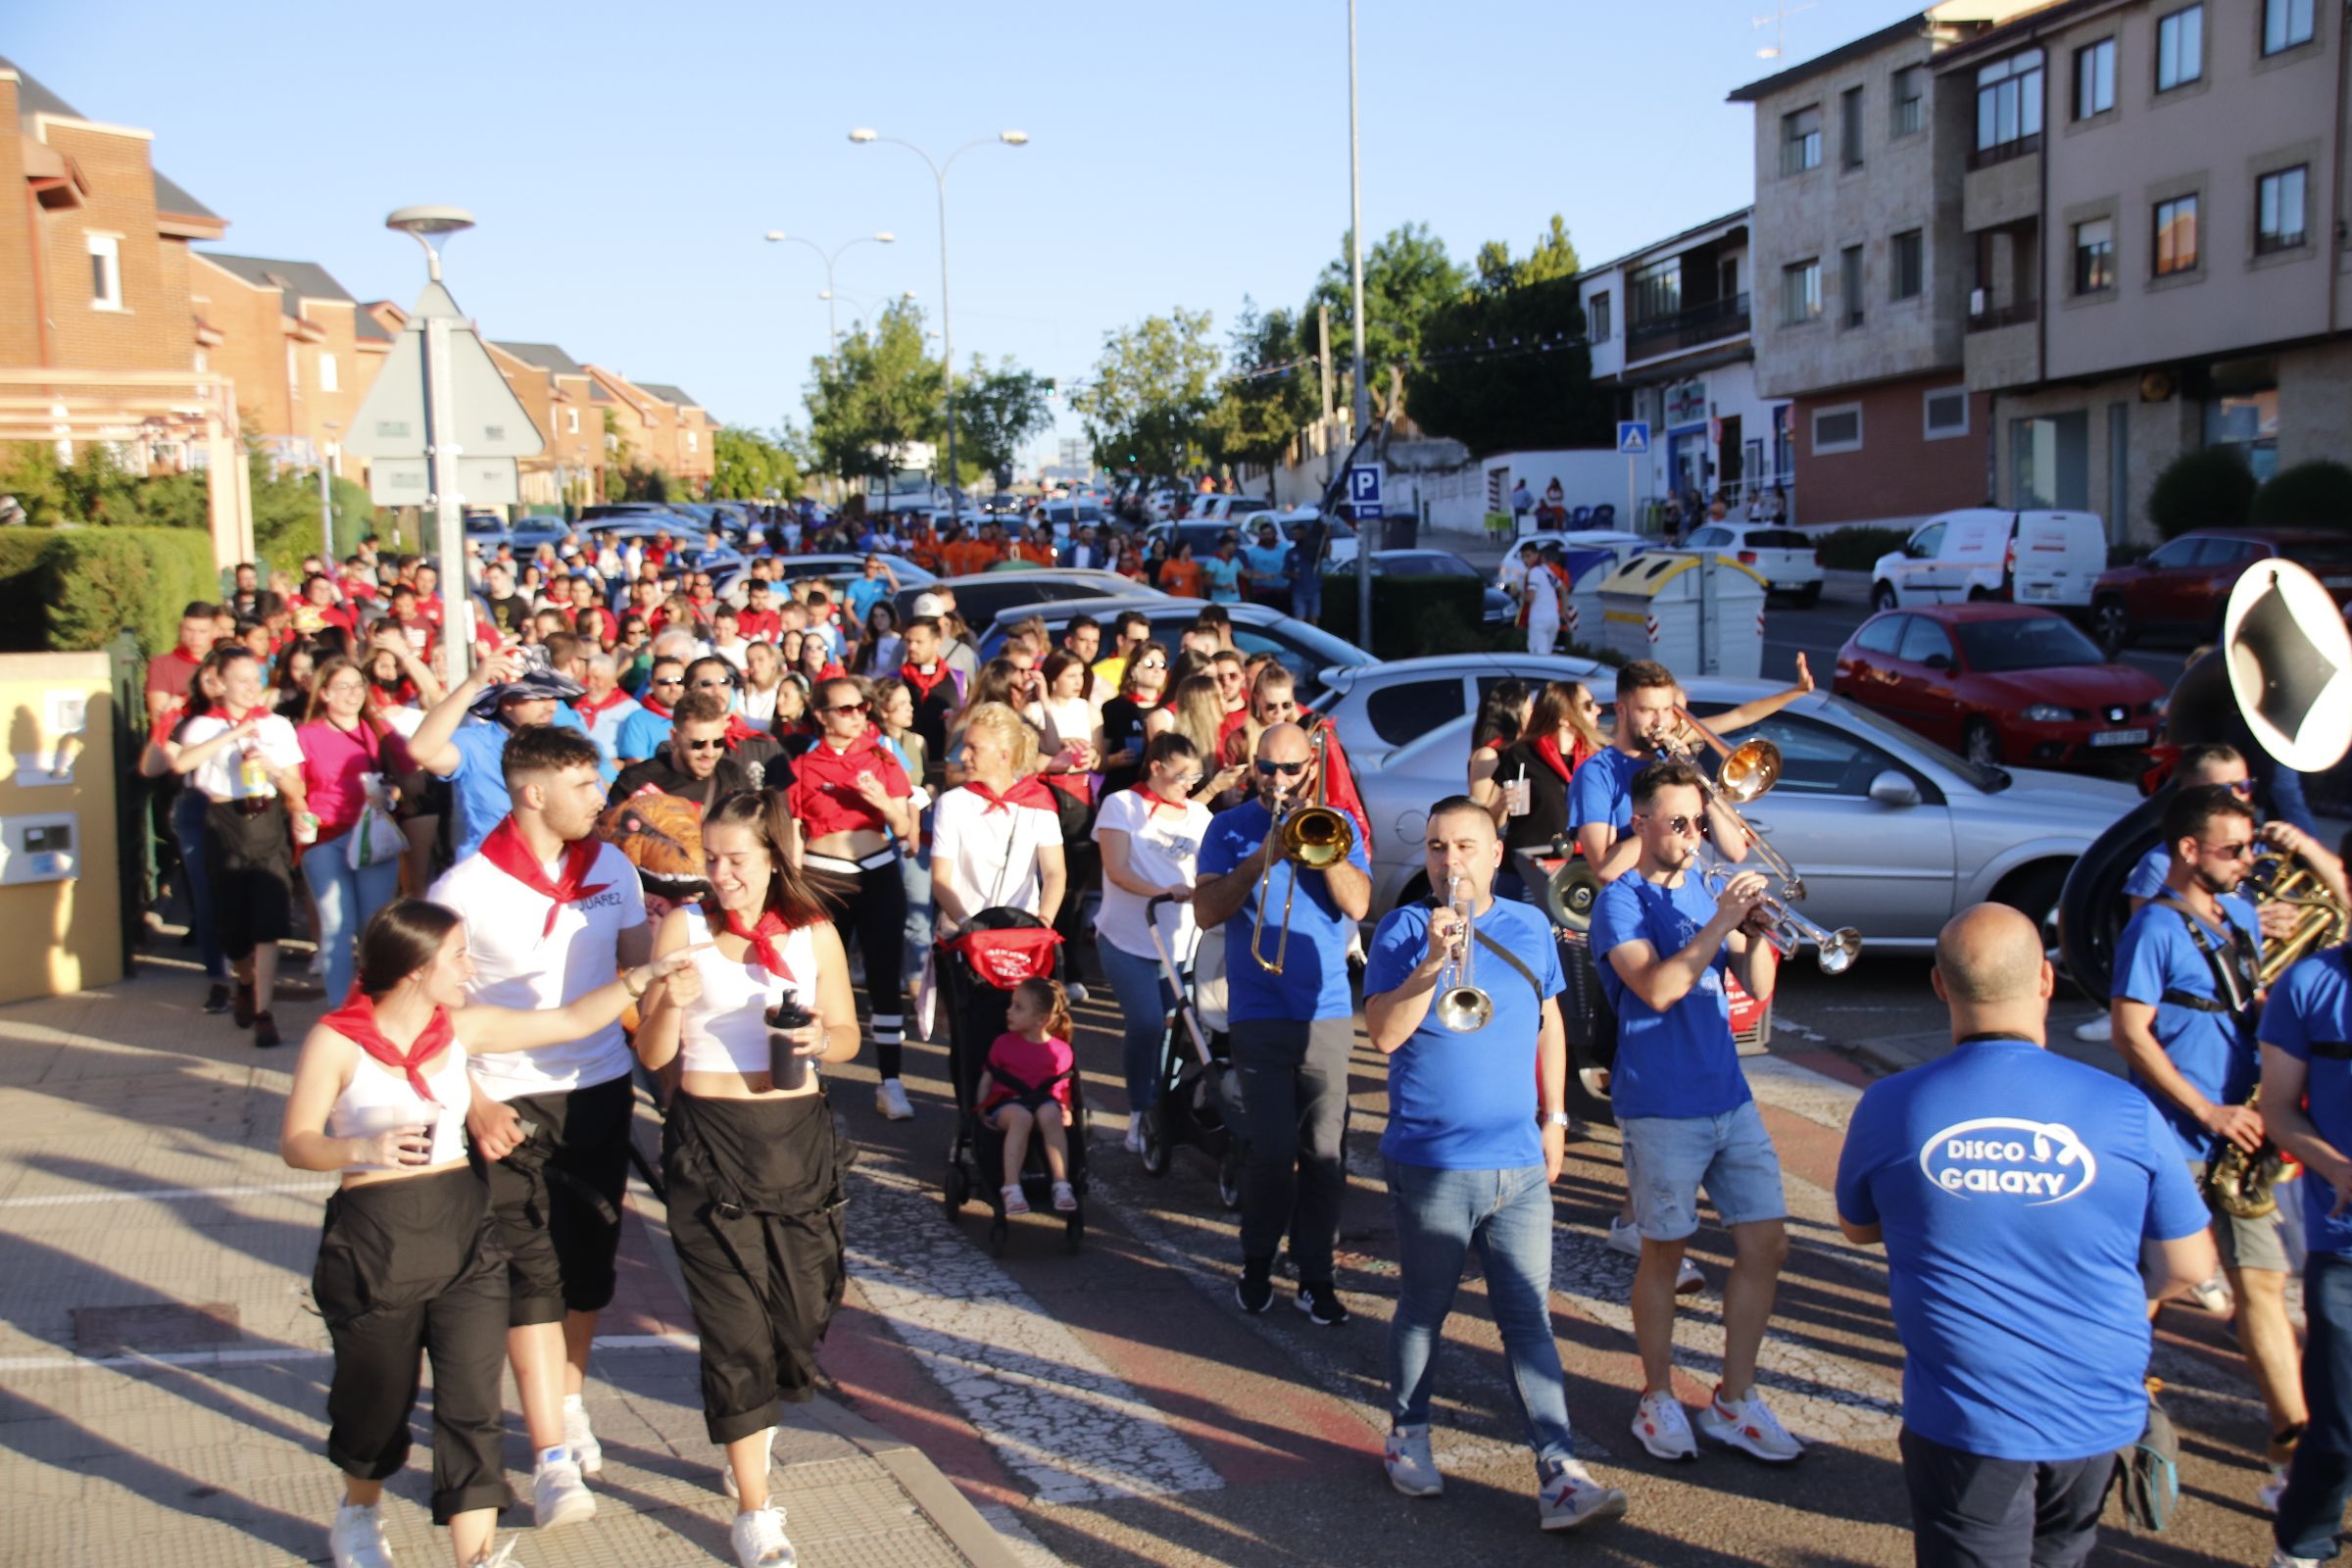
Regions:
<instances>
[{"instance_id":1,"label":"low white building with dark upper balcony, left of grey apartment block","mask_svg":"<svg viewBox=\"0 0 2352 1568\"><path fill-rule=\"evenodd\" d=\"M1738 510L1795 484L1790 404L1757 388L1748 233L1743 207L1576 277L1592 383L1651 428L1642 494Z\"/></svg>"}]
</instances>

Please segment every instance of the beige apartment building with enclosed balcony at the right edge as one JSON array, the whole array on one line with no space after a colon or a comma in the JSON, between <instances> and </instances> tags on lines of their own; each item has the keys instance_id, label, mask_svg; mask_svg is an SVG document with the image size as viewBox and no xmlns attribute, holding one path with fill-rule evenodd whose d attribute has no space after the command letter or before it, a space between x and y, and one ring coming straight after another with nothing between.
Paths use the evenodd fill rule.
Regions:
<instances>
[{"instance_id":1,"label":"beige apartment building with enclosed balcony at the right edge","mask_svg":"<svg viewBox=\"0 0 2352 1568\"><path fill-rule=\"evenodd\" d=\"M2152 538L2183 451L2343 456L2343 31L2319 0L2063 0L1938 56L1997 501Z\"/></svg>"}]
</instances>

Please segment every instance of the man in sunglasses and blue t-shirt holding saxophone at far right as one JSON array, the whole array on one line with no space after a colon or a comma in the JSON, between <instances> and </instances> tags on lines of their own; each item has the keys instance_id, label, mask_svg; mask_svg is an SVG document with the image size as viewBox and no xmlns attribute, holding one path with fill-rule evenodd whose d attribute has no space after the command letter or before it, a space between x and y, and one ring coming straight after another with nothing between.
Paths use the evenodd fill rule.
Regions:
<instances>
[{"instance_id":1,"label":"man in sunglasses and blue t-shirt holding saxophone at far right","mask_svg":"<svg viewBox=\"0 0 2352 1568\"><path fill-rule=\"evenodd\" d=\"M2249 1154L2263 1147L2263 1110L2246 1103L2260 1077L2263 929L2237 891L2260 835L2253 806L2230 785L2180 790L2164 809L2161 832L2171 851L2164 889L2114 945L2114 1048L2204 1187L2206 1164L2223 1147L2234 1143ZM2277 1213L2244 1220L2216 1206L2213 1244L2237 1295L2246 1368L2270 1410L2274 1476L2260 1495L2270 1505L2307 1418L2286 1316L2286 1239Z\"/></svg>"}]
</instances>

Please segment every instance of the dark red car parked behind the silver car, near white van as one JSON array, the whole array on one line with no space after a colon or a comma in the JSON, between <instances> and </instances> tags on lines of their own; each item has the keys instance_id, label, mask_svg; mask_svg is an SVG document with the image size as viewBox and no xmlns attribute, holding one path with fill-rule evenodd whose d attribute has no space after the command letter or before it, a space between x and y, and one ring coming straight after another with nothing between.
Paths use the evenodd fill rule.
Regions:
<instances>
[{"instance_id":1,"label":"dark red car parked behind the silver car, near white van","mask_svg":"<svg viewBox=\"0 0 2352 1568\"><path fill-rule=\"evenodd\" d=\"M2030 604L1879 611L1837 649L1832 691L1971 762L2037 769L2138 769L2164 719L2157 677Z\"/></svg>"}]
</instances>

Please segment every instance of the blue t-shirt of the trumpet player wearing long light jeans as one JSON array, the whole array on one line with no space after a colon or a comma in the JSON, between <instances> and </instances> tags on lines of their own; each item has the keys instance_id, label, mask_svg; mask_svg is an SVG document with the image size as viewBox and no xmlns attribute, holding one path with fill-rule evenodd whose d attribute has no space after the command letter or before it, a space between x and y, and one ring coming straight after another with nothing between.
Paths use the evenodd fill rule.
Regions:
<instances>
[{"instance_id":1,"label":"blue t-shirt of the trumpet player wearing long light jeans","mask_svg":"<svg viewBox=\"0 0 2352 1568\"><path fill-rule=\"evenodd\" d=\"M1545 997L1562 992L1559 945L1534 905L1496 898L1477 929L1536 971ZM1364 994L1397 990L1428 952L1430 907L1397 905L1371 933ZM1472 945L1477 987L1494 997L1486 1025L1456 1034L1430 1016L1388 1058L1388 1131L1381 1154L1437 1171L1519 1171L1543 1164L1536 1128L1536 1032L1543 1004L1526 978ZM1228 966L1230 969L1230 966Z\"/></svg>"}]
</instances>

